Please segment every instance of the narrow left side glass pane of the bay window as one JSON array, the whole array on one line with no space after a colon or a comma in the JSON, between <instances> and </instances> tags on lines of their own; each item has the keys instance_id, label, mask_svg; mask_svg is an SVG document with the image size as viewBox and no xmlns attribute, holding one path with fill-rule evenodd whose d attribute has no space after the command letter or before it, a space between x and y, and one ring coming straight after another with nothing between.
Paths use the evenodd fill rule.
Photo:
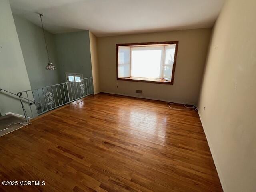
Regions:
<instances>
[{"instance_id":1,"label":"narrow left side glass pane of the bay window","mask_svg":"<svg viewBox=\"0 0 256 192\"><path fill-rule=\"evenodd\" d=\"M130 77L130 47L118 47L118 77Z\"/></svg>"}]
</instances>

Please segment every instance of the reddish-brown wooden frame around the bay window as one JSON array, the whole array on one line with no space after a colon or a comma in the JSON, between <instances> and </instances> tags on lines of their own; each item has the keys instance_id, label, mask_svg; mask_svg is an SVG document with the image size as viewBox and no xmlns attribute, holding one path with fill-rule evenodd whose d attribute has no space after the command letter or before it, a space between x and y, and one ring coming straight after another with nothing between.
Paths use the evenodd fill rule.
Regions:
<instances>
[{"instance_id":1,"label":"reddish-brown wooden frame around the bay window","mask_svg":"<svg viewBox=\"0 0 256 192\"><path fill-rule=\"evenodd\" d=\"M173 68L172 68L172 77L171 81L165 81L165 80L137 80L132 77L125 77L125 78L119 78L118 77L118 46L138 46L138 45L157 45L157 44L175 44L175 53L174 53L174 61L173 61ZM178 41L164 41L164 42L144 42L144 43L122 43L122 44L116 44L116 80L121 80L121 81L133 81L133 82L145 82L145 83L157 83L157 84L168 84L168 85L173 85L174 83L174 73L175 73L175 66L176 66L176 59L177 59L177 52L178 52ZM165 56L164 56L165 59ZM143 78L142 78L143 79ZM149 78L150 79L150 78Z\"/></svg>"}]
</instances>

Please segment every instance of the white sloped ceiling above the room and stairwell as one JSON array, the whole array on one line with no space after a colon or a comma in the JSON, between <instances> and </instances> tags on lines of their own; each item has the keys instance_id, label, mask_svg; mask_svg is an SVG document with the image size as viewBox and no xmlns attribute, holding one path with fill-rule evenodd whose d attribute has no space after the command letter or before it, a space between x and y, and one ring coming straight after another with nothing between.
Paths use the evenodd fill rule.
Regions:
<instances>
[{"instance_id":1,"label":"white sloped ceiling above the room and stairwell","mask_svg":"<svg viewBox=\"0 0 256 192\"><path fill-rule=\"evenodd\" d=\"M212 27L225 0L10 0L12 12L52 33L96 36Z\"/></svg>"}]
</instances>

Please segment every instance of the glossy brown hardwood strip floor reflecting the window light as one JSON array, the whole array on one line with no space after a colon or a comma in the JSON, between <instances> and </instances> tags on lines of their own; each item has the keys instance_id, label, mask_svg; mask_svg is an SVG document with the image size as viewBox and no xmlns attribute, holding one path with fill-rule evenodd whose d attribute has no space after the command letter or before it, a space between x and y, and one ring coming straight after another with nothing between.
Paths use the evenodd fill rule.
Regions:
<instances>
[{"instance_id":1,"label":"glossy brown hardwood strip floor reflecting the window light","mask_svg":"<svg viewBox=\"0 0 256 192\"><path fill-rule=\"evenodd\" d=\"M195 111L97 94L0 137L0 191L220 192Z\"/></svg>"}]
</instances>

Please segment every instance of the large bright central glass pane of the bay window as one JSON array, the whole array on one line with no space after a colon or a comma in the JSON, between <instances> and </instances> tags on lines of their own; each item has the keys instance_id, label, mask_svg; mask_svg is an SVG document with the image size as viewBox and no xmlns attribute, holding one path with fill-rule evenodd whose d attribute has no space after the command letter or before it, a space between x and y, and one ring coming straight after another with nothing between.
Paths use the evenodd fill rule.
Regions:
<instances>
[{"instance_id":1,"label":"large bright central glass pane of the bay window","mask_svg":"<svg viewBox=\"0 0 256 192\"><path fill-rule=\"evenodd\" d=\"M161 78L164 46L133 47L131 56L131 76Z\"/></svg>"}]
</instances>

